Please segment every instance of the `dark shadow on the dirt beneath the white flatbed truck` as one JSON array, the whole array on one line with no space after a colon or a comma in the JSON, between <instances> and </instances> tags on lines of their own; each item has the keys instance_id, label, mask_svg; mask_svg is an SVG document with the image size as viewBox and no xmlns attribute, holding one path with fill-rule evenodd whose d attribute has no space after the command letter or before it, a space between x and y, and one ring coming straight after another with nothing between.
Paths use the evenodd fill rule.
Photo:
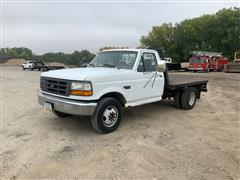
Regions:
<instances>
[{"instance_id":1,"label":"dark shadow on the dirt beneath the white flatbed truck","mask_svg":"<svg viewBox=\"0 0 240 180\"><path fill-rule=\"evenodd\" d=\"M150 123L152 120L161 121L159 115L169 115L173 111L177 111L174 107L173 101L160 101L151 104L146 104L137 107L129 107L123 111L122 122L120 128L124 129L131 125L137 125L137 123L143 124ZM86 116L70 116L67 118L54 117L51 119L54 129L57 131L70 131L77 135L97 134L91 125L91 118ZM137 125L138 126L138 125ZM144 128L144 127L142 127ZM126 133L126 131L124 131Z\"/></svg>"}]
</instances>

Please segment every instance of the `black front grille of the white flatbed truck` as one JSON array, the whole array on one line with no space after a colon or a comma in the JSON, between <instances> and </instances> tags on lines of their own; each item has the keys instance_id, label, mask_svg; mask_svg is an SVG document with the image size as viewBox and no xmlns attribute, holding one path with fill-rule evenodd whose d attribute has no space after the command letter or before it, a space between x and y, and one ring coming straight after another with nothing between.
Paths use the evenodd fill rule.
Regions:
<instances>
[{"instance_id":1,"label":"black front grille of the white flatbed truck","mask_svg":"<svg viewBox=\"0 0 240 180\"><path fill-rule=\"evenodd\" d=\"M42 91L59 94L62 96L68 96L70 89L70 81L41 77L40 86Z\"/></svg>"}]
</instances>

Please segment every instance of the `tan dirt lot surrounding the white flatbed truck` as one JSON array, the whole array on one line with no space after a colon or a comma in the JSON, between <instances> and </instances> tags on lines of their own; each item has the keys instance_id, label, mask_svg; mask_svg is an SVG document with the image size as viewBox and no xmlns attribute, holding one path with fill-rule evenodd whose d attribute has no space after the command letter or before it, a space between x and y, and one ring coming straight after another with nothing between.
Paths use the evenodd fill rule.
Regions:
<instances>
[{"instance_id":1,"label":"tan dirt lot surrounding the white flatbed truck","mask_svg":"<svg viewBox=\"0 0 240 180\"><path fill-rule=\"evenodd\" d=\"M193 110L127 109L117 131L100 135L88 118L38 105L39 72L3 67L2 179L238 179L240 74L179 74L209 80Z\"/></svg>"}]
</instances>

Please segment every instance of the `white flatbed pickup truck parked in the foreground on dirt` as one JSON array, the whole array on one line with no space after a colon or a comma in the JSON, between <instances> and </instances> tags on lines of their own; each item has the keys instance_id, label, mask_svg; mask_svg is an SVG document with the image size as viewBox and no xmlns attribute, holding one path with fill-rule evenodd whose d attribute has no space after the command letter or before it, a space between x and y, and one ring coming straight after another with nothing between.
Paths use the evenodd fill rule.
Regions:
<instances>
[{"instance_id":1,"label":"white flatbed pickup truck parked in the foreground on dirt","mask_svg":"<svg viewBox=\"0 0 240 180\"><path fill-rule=\"evenodd\" d=\"M192 109L207 82L169 75L155 50L105 50L87 67L42 73L38 101L59 117L91 116L96 131L109 133L127 107L173 97L176 107Z\"/></svg>"}]
</instances>

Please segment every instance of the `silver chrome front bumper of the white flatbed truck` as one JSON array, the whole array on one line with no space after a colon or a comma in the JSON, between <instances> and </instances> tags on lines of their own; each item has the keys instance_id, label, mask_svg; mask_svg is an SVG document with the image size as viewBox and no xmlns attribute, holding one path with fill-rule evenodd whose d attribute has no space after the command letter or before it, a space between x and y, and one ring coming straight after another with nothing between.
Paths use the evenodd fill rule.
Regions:
<instances>
[{"instance_id":1,"label":"silver chrome front bumper of the white flatbed truck","mask_svg":"<svg viewBox=\"0 0 240 180\"><path fill-rule=\"evenodd\" d=\"M50 96L44 93L38 94L38 102L44 105L44 102L51 103L53 109L67 114L91 116L97 106L95 102L84 102Z\"/></svg>"}]
</instances>

